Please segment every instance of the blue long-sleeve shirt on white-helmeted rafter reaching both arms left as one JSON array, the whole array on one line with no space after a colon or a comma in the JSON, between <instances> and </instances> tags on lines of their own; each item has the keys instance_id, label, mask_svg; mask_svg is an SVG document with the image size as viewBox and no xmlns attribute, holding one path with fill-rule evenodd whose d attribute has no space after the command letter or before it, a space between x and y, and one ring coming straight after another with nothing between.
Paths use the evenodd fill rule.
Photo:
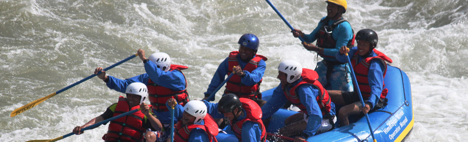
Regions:
<instances>
[{"instance_id":1,"label":"blue long-sleeve shirt on white-helmeted rafter reaching both arms left","mask_svg":"<svg viewBox=\"0 0 468 142\"><path fill-rule=\"evenodd\" d=\"M185 90L185 78L181 72L176 70L172 70L170 72L164 72L160 68L156 66L151 60L144 63L144 69L146 70L146 74L141 74L129 79L121 80L112 76L109 77L109 81L106 82L107 87L113 89L115 91L119 91L125 93L127 86L134 82L141 82L145 85L148 85L148 80L151 80L163 87L172 89L174 91L182 91ZM147 97L148 98L148 97ZM158 112L153 111L156 116L158 116L159 121L161 123L170 123L170 113L169 111L166 112ZM176 120L177 122L177 120Z\"/></svg>"}]
</instances>

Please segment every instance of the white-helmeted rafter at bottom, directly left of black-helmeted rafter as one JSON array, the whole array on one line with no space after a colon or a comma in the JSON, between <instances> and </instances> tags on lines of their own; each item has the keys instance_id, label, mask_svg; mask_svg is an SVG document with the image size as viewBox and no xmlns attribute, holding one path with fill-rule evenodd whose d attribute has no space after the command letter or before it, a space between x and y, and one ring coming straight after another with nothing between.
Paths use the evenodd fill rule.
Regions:
<instances>
[{"instance_id":1,"label":"white-helmeted rafter at bottom, directly left of black-helmeted rafter","mask_svg":"<svg viewBox=\"0 0 468 142\"><path fill-rule=\"evenodd\" d=\"M167 100L167 107L174 107L174 118L180 120L174 129L174 141L215 142L218 125L207 114L207 106L199 100L191 100L182 107L175 104L176 99Z\"/></svg>"}]
</instances>

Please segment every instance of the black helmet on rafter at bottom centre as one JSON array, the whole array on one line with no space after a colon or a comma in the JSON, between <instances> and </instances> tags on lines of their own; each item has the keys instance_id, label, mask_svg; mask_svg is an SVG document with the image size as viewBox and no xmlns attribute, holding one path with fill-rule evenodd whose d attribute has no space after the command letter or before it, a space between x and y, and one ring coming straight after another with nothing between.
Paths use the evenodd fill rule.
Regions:
<instances>
[{"instance_id":1,"label":"black helmet on rafter at bottom centre","mask_svg":"<svg viewBox=\"0 0 468 142\"><path fill-rule=\"evenodd\" d=\"M239 108L239 110L242 109L242 103L235 94L226 94L218 101L218 112L221 114L233 113L236 108Z\"/></svg>"}]
</instances>

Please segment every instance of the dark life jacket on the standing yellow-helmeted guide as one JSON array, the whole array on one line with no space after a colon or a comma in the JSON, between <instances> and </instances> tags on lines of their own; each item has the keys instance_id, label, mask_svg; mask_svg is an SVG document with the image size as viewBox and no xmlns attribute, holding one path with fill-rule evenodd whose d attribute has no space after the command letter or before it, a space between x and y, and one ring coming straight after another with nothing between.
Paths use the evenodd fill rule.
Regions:
<instances>
[{"instance_id":1,"label":"dark life jacket on the standing yellow-helmeted guide","mask_svg":"<svg viewBox=\"0 0 468 142\"><path fill-rule=\"evenodd\" d=\"M332 25L328 26L328 22L330 21L330 18L326 17L323 20L320 20L319 23L321 24L320 30L315 34L315 38L317 39L316 46L320 48L335 48L336 46L336 40L333 39L333 29L341 24L342 22L348 22L345 19L339 19L335 21ZM348 22L349 23L349 22ZM355 39L355 34L354 34L354 29L353 31L353 38L348 41L348 44L346 45L348 48L354 47L354 39ZM335 58L335 56L327 56L325 54L319 53L320 57L327 57L327 58Z\"/></svg>"}]
</instances>

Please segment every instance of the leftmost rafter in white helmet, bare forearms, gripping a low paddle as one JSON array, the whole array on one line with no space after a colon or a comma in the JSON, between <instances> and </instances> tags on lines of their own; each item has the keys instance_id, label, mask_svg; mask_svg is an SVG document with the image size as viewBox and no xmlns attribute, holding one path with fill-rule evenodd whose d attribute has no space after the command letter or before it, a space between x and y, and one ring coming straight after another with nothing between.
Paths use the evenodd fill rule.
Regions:
<instances>
[{"instance_id":1,"label":"leftmost rafter in white helmet, bare forearms, gripping a low paddle","mask_svg":"<svg viewBox=\"0 0 468 142\"><path fill-rule=\"evenodd\" d=\"M106 119L118 116L120 114L141 108L141 111L131 115L121 117L110 121L107 133L102 136L105 141L134 141L139 142L146 138L146 141L158 140L157 133L151 129L159 131L162 128L159 120L153 116L148 104L144 100L148 96L146 85L135 82L128 85L125 93L127 97L120 96L119 102L110 105L109 108L100 116L90 120L82 126L76 126L73 133L82 134L82 128L99 123Z\"/></svg>"}]
</instances>

